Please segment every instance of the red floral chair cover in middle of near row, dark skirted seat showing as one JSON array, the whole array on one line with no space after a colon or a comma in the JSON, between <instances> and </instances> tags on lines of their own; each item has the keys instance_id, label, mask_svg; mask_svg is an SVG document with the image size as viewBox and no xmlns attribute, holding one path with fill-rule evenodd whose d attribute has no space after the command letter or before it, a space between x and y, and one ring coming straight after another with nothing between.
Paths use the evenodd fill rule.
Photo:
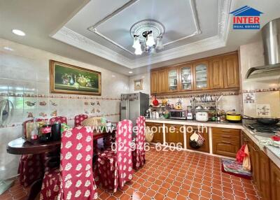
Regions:
<instances>
[{"instance_id":1,"label":"red floral chair cover in middle of near row, dark skirted seat showing","mask_svg":"<svg viewBox=\"0 0 280 200\"><path fill-rule=\"evenodd\" d=\"M98 153L97 183L116 192L127 181L132 180L132 122L118 122L116 130L116 150Z\"/></svg>"}]
</instances>

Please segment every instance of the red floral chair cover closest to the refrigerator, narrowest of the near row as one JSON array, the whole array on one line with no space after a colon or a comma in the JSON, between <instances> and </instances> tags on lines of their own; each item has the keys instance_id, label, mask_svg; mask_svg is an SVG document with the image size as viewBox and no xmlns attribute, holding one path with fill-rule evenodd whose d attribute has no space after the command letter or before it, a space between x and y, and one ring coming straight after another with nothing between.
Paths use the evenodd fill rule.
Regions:
<instances>
[{"instance_id":1,"label":"red floral chair cover closest to the refrigerator, narrowest of the near row","mask_svg":"<svg viewBox=\"0 0 280 200\"><path fill-rule=\"evenodd\" d=\"M133 168L138 170L141 166L144 166L145 160L145 117L140 116L136 120L137 133L135 138L135 148L132 152Z\"/></svg>"}]
</instances>

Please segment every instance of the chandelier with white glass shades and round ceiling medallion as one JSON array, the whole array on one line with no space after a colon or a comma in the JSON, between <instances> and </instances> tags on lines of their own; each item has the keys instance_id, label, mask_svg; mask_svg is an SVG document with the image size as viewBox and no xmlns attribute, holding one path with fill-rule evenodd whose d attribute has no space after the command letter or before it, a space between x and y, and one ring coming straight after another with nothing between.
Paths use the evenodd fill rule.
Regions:
<instances>
[{"instance_id":1,"label":"chandelier with white glass shades and round ceiling medallion","mask_svg":"<svg viewBox=\"0 0 280 200\"><path fill-rule=\"evenodd\" d=\"M134 54L141 55L143 52L155 54L156 50L162 50L164 33L165 27L155 20L143 20L133 24L130 34L134 38L132 45L132 48L135 49Z\"/></svg>"}]
</instances>

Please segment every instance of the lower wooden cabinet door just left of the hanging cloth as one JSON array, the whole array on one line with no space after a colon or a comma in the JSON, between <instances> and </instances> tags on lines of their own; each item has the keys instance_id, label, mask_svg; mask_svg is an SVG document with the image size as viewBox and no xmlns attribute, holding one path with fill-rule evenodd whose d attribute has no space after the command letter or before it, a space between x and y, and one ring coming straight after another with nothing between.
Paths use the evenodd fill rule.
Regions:
<instances>
[{"instance_id":1,"label":"lower wooden cabinet door just left of the hanging cloth","mask_svg":"<svg viewBox=\"0 0 280 200\"><path fill-rule=\"evenodd\" d=\"M174 124L165 124L165 126L165 141L167 142L167 144L175 143L176 145L177 143L181 143L182 148L184 148L184 127ZM174 129L171 129L170 127L174 127Z\"/></svg>"}]
</instances>

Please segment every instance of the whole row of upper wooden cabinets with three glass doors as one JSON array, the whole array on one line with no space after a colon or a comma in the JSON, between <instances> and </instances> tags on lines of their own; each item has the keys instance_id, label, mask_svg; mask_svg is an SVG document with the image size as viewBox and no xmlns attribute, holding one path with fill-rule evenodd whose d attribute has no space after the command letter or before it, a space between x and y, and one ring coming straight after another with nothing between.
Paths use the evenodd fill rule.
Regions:
<instances>
[{"instance_id":1,"label":"whole row of upper wooden cabinets with three glass doors","mask_svg":"<svg viewBox=\"0 0 280 200\"><path fill-rule=\"evenodd\" d=\"M238 88L237 52L151 71L151 94Z\"/></svg>"}]
</instances>

